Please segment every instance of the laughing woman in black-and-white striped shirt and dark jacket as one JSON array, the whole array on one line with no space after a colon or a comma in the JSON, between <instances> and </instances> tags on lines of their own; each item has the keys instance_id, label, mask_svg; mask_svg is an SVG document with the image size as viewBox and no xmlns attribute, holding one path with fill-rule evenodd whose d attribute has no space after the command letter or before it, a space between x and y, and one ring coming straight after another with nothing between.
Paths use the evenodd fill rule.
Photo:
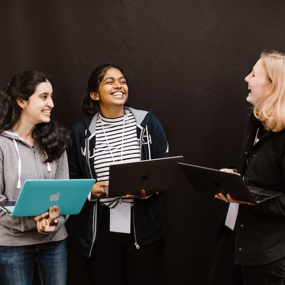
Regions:
<instances>
[{"instance_id":1,"label":"laughing woman in black-and-white striped shirt and dark jacket","mask_svg":"<svg viewBox=\"0 0 285 285\"><path fill-rule=\"evenodd\" d=\"M165 232L160 195L142 191L140 197L107 198L102 188L113 162L168 157L157 118L149 110L124 106L127 99L123 70L111 64L97 67L83 100L87 117L71 131L70 177L97 180L81 212L79 233L92 284L158 284L160 277ZM125 214L118 218L120 212Z\"/></svg>"}]
</instances>

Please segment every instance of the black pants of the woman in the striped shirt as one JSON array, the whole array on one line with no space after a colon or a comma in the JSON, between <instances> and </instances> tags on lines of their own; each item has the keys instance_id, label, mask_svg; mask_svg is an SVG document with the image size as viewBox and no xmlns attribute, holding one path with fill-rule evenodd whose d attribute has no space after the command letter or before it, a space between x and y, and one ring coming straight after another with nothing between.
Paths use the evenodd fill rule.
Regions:
<instances>
[{"instance_id":1,"label":"black pants of the woman in the striped shirt","mask_svg":"<svg viewBox=\"0 0 285 285\"><path fill-rule=\"evenodd\" d=\"M91 284L156 285L159 283L163 240L135 246L134 234L109 231L109 208L102 206L99 239L87 267ZM132 229L132 226L131 226Z\"/></svg>"}]
</instances>

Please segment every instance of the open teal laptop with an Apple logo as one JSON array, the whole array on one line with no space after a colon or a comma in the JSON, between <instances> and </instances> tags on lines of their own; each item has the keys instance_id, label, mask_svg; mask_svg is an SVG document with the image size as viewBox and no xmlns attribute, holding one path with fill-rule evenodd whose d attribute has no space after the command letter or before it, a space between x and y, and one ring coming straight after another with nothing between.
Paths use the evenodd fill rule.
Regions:
<instances>
[{"instance_id":1,"label":"open teal laptop with an Apple logo","mask_svg":"<svg viewBox=\"0 0 285 285\"><path fill-rule=\"evenodd\" d=\"M38 216L58 205L61 215L79 214L95 179L26 180L16 201L0 201L12 217Z\"/></svg>"}]
</instances>

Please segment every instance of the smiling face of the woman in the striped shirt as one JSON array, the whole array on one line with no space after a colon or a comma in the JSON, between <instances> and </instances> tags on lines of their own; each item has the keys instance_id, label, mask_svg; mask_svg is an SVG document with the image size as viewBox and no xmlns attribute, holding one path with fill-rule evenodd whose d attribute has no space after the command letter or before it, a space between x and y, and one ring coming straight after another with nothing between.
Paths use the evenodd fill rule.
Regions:
<instances>
[{"instance_id":1,"label":"smiling face of the woman in the striped shirt","mask_svg":"<svg viewBox=\"0 0 285 285\"><path fill-rule=\"evenodd\" d=\"M120 108L128 99L128 86L123 73L117 68L109 68L99 84L98 92L90 97L99 101L100 109Z\"/></svg>"}]
</instances>

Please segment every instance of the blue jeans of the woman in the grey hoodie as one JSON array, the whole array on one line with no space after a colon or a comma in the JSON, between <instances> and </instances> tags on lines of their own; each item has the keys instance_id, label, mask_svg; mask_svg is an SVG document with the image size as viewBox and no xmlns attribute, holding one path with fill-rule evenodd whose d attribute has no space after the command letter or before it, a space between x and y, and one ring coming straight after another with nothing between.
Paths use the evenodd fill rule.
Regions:
<instances>
[{"instance_id":1,"label":"blue jeans of the woman in the grey hoodie","mask_svg":"<svg viewBox=\"0 0 285 285\"><path fill-rule=\"evenodd\" d=\"M66 285L66 242L0 246L0 284L31 285L33 270L40 284Z\"/></svg>"}]
</instances>

